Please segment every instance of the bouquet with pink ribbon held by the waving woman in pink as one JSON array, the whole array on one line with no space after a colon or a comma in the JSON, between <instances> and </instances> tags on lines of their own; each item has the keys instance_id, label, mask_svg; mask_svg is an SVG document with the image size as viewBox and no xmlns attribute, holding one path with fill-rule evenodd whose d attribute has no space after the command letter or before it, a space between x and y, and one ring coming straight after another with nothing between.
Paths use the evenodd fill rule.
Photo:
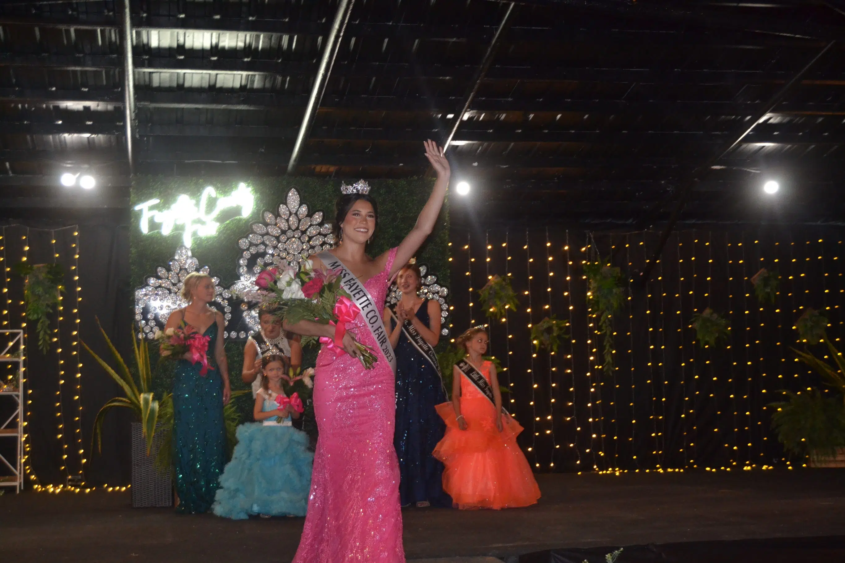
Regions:
<instances>
[{"instance_id":1,"label":"bouquet with pink ribbon held by the waving woman in pink","mask_svg":"<svg viewBox=\"0 0 845 563\"><path fill-rule=\"evenodd\" d=\"M352 322L361 312L352 296L341 286L341 269L313 268L310 260L303 261L300 268L267 268L255 279L259 287L259 300L278 308L286 322L295 324L308 320L329 324L335 328L335 338L320 337L335 355L346 352L343 337L346 323ZM303 336L303 346L312 344L315 337ZM361 363L370 369L378 360L373 350L356 341L361 352Z\"/></svg>"}]
</instances>

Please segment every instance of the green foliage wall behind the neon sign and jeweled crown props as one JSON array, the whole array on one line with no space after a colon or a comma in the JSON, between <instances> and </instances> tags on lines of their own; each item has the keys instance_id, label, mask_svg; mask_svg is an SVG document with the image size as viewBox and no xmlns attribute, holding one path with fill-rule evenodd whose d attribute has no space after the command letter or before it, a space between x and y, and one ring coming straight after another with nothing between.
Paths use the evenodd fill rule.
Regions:
<instances>
[{"instance_id":1,"label":"green foliage wall behind the neon sign and jeweled crown props","mask_svg":"<svg viewBox=\"0 0 845 563\"><path fill-rule=\"evenodd\" d=\"M255 207L248 218L236 217L222 223L217 234L208 237L194 236L191 252L201 266L210 266L212 275L221 279L221 286L229 287L238 279L236 272L237 258L241 249L237 240L250 232L249 225L259 221L264 210L276 214L280 203L285 201L287 192L296 188L302 203L308 205L308 213L324 212L324 221L330 222L335 216L335 199L340 195L341 180L334 178L310 177L255 177L255 178L200 178L185 176L137 176L134 179L131 201L132 207L153 198L161 199L157 208L169 208L180 194L199 199L207 186L215 187L221 195L232 192L237 184L244 182L255 196ZM357 178L346 179L347 184ZM417 221L417 214L428 200L433 187L433 180L428 178L409 178L402 180L370 181L370 194L379 203L379 227L373 244L371 256L398 245ZM161 235L153 231L144 235L139 228L140 212L132 212L130 223L130 257L132 264L132 284L139 287L144 279L155 275L155 268L166 266L173 257L177 246L182 244L182 231L170 235ZM225 219L225 216L223 216ZM417 262L428 264L429 271L438 276L439 283L449 285L449 212L448 203L440 215L438 225L428 241L417 253ZM246 387L240 379L243 363L243 342L227 342L226 357L232 378L232 388ZM306 350L305 365L313 365L316 350ZM154 359L155 362L155 359ZM172 385L172 365L162 363L155 372L158 392L169 389ZM243 419L249 420L252 409L251 398L238 398L238 405Z\"/></svg>"}]
</instances>

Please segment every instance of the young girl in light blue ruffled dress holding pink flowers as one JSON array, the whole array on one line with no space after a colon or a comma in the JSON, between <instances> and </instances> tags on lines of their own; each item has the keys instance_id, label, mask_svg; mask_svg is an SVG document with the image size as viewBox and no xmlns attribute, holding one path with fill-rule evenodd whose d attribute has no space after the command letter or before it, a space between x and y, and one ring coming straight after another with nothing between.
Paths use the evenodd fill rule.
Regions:
<instances>
[{"instance_id":1,"label":"young girl in light blue ruffled dress holding pink flowers","mask_svg":"<svg viewBox=\"0 0 845 563\"><path fill-rule=\"evenodd\" d=\"M313 464L308 435L291 425L292 417L299 418L296 409L290 404L280 408L276 402L285 396L281 380L288 364L284 356L270 353L261 358L261 365L256 422L237 427L237 446L212 506L217 516L305 516L308 507Z\"/></svg>"}]
</instances>

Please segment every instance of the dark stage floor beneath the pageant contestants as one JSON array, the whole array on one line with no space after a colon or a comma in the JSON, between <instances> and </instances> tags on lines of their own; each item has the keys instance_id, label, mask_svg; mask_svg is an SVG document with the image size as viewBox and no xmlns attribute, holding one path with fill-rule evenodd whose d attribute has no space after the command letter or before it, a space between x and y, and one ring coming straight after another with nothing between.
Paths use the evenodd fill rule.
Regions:
<instances>
[{"instance_id":1,"label":"dark stage floor beneath the pageant contestants","mask_svg":"<svg viewBox=\"0 0 845 563\"><path fill-rule=\"evenodd\" d=\"M543 549L845 535L843 470L553 474L537 480L542 499L532 508L404 511L408 558L493 555L515 560L514 555ZM232 522L177 516L166 509L133 510L128 504L128 493L0 496L0 560L287 561L303 522ZM812 544L820 549L816 555L825 554L818 560L845 560L845 550L837 547L841 539L797 541L790 544L799 546L795 553ZM701 553L701 548L691 552ZM755 560L777 559L743 559Z\"/></svg>"}]
</instances>

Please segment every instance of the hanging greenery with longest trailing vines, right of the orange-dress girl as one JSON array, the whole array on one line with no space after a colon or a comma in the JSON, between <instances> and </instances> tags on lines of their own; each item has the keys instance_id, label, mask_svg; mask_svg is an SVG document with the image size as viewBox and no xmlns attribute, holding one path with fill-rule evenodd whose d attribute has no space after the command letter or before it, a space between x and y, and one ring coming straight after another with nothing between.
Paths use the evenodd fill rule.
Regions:
<instances>
[{"instance_id":1,"label":"hanging greenery with longest trailing vines, right of the orange-dress girl","mask_svg":"<svg viewBox=\"0 0 845 563\"><path fill-rule=\"evenodd\" d=\"M602 368L613 373L613 313L622 306L624 289L619 268L613 268L610 260L584 264L584 273L589 284L586 294L590 306L598 318L599 332L604 340Z\"/></svg>"}]
</instances>

